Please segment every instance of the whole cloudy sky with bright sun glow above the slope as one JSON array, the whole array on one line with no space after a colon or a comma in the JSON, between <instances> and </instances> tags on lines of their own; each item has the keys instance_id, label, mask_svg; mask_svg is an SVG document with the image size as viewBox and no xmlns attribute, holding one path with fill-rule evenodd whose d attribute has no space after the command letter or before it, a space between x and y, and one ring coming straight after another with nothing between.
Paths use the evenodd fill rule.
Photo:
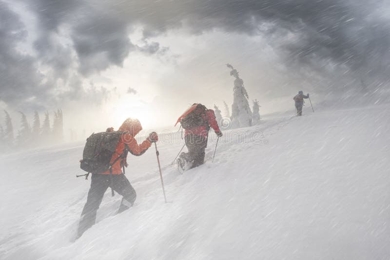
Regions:
<instances>
[{"instance_id":1,"label":"whole cloudy sky with bright sun glow above the slope","mask_svg":"<svg viewBox=\"0 0 390 260\"><path fill-rule=\"evenodd\" d=\"M386 0L0 0L0 109L15 129L58 108L65 132L168 127L232 104L230 63L266 114L388 91L389 48Z\"/></svg>"}]
</instances>

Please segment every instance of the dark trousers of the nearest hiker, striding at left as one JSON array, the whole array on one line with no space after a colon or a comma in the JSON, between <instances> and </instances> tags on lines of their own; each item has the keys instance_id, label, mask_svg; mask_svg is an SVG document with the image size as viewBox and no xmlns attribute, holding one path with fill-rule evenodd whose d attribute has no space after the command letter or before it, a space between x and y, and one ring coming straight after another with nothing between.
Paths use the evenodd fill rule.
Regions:
<instances>
[{"instance_id":1,"label":"dark trousers of the nearest hiker, striding at left","mask_svg":"<svg viewBox=\"0 0 390 260\"><path fill-rule=\"evenodd\" d=\"M92 174L87 203L84 205L78 225L78 237L95 224L96 212L108 187L110 187L109 174ZM123 196L118 213L129 208L123 204L123 200L128 201L130 205L136 201L136 191L123 174L113 175L113 189Z\"/></svg>"}]
</instances>

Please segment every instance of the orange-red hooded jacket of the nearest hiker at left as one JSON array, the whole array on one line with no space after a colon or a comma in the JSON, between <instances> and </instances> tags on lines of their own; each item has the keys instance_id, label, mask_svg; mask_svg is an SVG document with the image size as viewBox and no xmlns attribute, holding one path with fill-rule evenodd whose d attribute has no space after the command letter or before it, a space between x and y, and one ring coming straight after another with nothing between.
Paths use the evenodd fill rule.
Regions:
<instances>
[{"instance_id":1,"label":"orange-red hooded jacket of the nearest hiker at left","mask_svg":"<svg viewBox=\"0 0 390 260\"><path fill-rule=\"evenodd\" d=\"M129 152L136 156L142 155L152 145L152 143L148 140L143 141L140 145L137 144L137 140L134 137L140 130L142 130L142 126L137 119L128 118L123 122L122 126L119 128L119 131L122 131L123 134L117 144L113 157L111 157L110 164L123 154L123 150L126 145ZM122 173L121 162L124 165L127 165L126 158L123 158L123 160L117 160L117 162L115 162L112 166L113 174ZM108 170L101 174L110 174L110 171Z\"/></svg>"}]
</instances>

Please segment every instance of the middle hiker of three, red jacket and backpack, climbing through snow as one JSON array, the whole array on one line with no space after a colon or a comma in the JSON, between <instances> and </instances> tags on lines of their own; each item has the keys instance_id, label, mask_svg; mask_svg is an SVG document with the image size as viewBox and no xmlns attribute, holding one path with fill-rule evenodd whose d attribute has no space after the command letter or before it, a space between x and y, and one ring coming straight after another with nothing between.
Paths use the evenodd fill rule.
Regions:
<instances>
[{"instance_id":1,"label":"middle hiker of three, red jacket and backpack, climbing through snow","mask_svg":"<svg viewBox=\"0 0 390 260\"><path fill-rule=\"evenodd\" d=\"M214 111L195 103L177 119L177 123L181 123L185 130L184 139L188 149L188 152L182 152L177 158L179 169L186 170L202 165L210 128L213 128L218 137L222 136Z\"/></svg>"}]
</instances>

